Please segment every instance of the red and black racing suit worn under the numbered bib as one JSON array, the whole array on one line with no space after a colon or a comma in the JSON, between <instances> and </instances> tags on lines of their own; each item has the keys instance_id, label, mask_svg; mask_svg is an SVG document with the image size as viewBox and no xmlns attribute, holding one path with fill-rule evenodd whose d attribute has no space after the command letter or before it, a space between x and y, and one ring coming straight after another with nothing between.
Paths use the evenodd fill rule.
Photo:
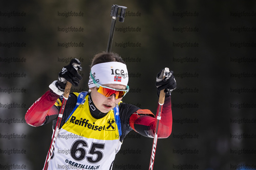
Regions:
<instances>
[{"instance_id":1,"label":"red and black racing suit worn under the numbered bib","mask_svg":"<svg viewBox=\"0 0 256 170\"><path fill-rule=\"evenodd\" d=\"M27 124L38 127L53 122L54 127L61 108L62 99L62 96L55 94L52 90L48 90L28 109L25 115ZM63 113L61 127L64 125L65 120L68 118L69 114L75 107L76 101L77 96L73 93L70 93ZM60 103L60 105L54 105L55 102ZM154 136L156 119L150 110L140 109L139 107L126 103L121 103L119 105L119 109L122 127L122 136L120 141L123 141L125 136L131 130L134 130L143 136ZM90 108L90 112L94 118L101 118L105 116L104 113L101 113L97 109L96 111L93 111ZM170 136L172 129L171 96L165 98L161 117L162 118L160 122L158 137L167 138Z\"/></svg>"}]
</instances>

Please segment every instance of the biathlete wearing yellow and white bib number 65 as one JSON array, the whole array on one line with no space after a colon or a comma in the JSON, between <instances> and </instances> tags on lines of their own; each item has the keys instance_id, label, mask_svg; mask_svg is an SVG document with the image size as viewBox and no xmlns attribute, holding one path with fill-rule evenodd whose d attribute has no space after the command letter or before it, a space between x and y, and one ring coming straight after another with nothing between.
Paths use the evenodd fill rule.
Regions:
<instances>
[{"instance_id":1,"label":"biathlete wearing yellow and white bib number 65","mask_svg":"<svg viewBox=\"0 0 256 170\"><path fill-rule=\"evenodd\" d=\"M73 65L76 65L74 67ZM78 86L81 63L72 59L58 74L58 80L27 111L27 124L38 127L53 122L56 125L62 106L66 82ZM165 79L157 74L157 94L165 89L165 101L159 126L159 138L167 138L172 129L171 91L176 88L173 71ZM122 102L129 91L125 62L115 53L96 54L91 63L88 92L70 93L62 116L60 130L48 169L112 169L115 154L131 131L153 137L154 114Z\"/></svg>"}]
</instances>

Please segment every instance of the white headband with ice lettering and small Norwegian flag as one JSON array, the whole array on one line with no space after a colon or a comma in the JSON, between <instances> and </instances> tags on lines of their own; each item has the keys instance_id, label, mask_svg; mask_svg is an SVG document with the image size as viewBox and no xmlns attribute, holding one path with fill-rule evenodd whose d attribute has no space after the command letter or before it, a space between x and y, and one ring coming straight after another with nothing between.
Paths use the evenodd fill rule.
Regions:
<instances>
[{"instance_id":1,"label":"white headband with ice lettering and small Norwegian flag","mask_svg":"<svg viewBox=\"0 0 256 170\"><path fill-rule=\"evenodd\" d=\"M121 62L106 62L93 65L88 81L89 88L96 86L91 76L100 85L121 84L127 86L129 79L127 67Z\"/></svg>"}]
</instances>

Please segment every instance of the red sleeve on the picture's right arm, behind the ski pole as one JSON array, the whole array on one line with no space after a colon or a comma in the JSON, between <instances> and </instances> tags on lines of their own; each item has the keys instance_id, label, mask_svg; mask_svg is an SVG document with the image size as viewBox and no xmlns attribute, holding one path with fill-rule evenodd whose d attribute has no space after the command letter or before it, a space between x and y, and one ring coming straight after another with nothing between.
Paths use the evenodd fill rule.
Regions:
<instances>
[{"instance_id":1,"label":"red sleeve on the picture's right arm, behind the ski pole","mask_svg":"<svg viewBox=\"0 0 256 170\"><path fill-rule=\"evenodd\" d=\"M157 112L158 112L157 108ZM129 125L137 133L146 136L154 137L156 118L150 110L139 109L130 116ZM171 111L171 97L165 98L163 105L161 120L159 125L159 138L167 138L170 136L172 130L172 111Z\"/></svg>"}]
</instances>

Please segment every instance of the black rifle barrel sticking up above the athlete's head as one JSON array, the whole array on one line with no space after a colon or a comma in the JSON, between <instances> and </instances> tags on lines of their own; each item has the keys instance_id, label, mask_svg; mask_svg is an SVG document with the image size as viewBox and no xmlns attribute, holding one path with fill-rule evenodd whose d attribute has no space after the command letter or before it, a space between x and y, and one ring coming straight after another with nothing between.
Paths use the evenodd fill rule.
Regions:
<instances>
[{"instance_id":1,"label":"black rifle barrel sticking up above the athlete's head","mask_svg":"<svg viewBox=\"0 0 256 170\"><path fill-rule=\"evenodd\" d=\"M118 15L119 9L121 9L120 15ZM112 16L112 19L111 19L111 26L110 26L110 32L109 32L108 44L107 44L107 52L108 53L111 52L111 46L112 46L112 41L113 41L113 36L114 36L116 18L119 16L119 21L124 22L126 9L127 9L127 7L119 6L119 5L112 5L112 7L111 7L110 16Z\"/></svg>"}]
</instances>

